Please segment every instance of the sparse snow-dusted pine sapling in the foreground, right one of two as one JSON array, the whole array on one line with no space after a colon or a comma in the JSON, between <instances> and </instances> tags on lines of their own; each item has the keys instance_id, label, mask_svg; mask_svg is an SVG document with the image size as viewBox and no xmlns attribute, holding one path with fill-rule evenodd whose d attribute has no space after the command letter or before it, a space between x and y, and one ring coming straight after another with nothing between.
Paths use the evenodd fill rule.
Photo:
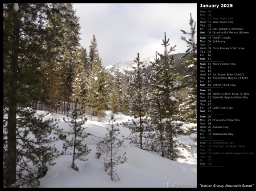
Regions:
<instances>
[{"instance_id":1,"label":"sparse snow-dusted pine sapling in the foreground, right one of two","mask_svg":"<svg viewBox=\"0 0 256 191\"><path fill-rule=\"evenodd\" d=\"M123 164L127 162L126 158L126 152L121 156L116 156L118 154L118 148L123 146L123 140L120 140L117 138L119 132L119 128L115 128L115 126L118 126L118 124L114 125L114 114L112 113L110 115L110 128L106 128L108 130L108 133L106 133L106 138L104 138L103 143L106 145L106 149L99 144L97 147L98 153L106 154L105 156L102 156L104 160L104 167L105 171L110 175L112 181L119 180L119 176L115 172L116 165Z\"/></svg>"}]
</instances>

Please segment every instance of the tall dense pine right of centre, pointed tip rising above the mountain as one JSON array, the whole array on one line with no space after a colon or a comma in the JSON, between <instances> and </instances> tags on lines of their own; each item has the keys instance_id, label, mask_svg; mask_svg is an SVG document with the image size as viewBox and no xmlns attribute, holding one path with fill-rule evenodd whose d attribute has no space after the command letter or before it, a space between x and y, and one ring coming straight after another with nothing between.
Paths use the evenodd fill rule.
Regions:
<instances>
[{"instance_id":1,"label":"tall dense pine right of centre, pointed tip rising above the mountain","mask_svg":"<svg viewBox=\"0 0 256 191\"><path fill-rule=\"evenodd\" d=\"M156 139L152 143L156 143L151 147L158 150L163 157L176 160L176 158L181 157L179 150L176 148L178 144L176 137L181 131L179 128L182 124L175 121L175 119L179 119L179 101L175 97L175 92L180 87L176 83L179 74L174 73L176 69L174 67L174 55L169 56L175 50L176 45L168 50L169 40L167 40L166 33L164 33L162 44L164 54L157 53L160 60L156 55L155 62L152 63L154 73L151 76L151 92L153 94L151 116L154 124L154 134L156 134L154 137Z\"/></svg>"}]
</instances>

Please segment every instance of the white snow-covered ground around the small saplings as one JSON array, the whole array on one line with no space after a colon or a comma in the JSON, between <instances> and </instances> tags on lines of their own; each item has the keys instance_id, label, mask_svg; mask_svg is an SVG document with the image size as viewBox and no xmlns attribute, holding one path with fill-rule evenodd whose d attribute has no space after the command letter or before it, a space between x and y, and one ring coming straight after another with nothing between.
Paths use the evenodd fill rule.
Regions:
<instances>
[{"instance_id":1,"label":"white snow-covered ground around the small saplings","mask_svg":"<svg viewBox=\"0 0 256 191\"><path fill-rule=\"evenodd\" d=\"M38 111L42 112L42 111ZM195 188L197 182L197 167L196 167L196 145L191 147L192 150L187 148L180 148L185 156L185 159L179 159L177 162L162 158L156 154L144 151L135 147L130 140L125 140L124 146L118 148L118 153L123 154L126 152L127 162L119 164L115 167L116 173L120 180L112 181L110 176L105 172L102 158L97 159L97 144L106 137L110 127L110 111L105 111L106 116L101 122L96 119L91 121L90 116L88 121L82 127L86 128L86 133L92 134L84 141L88 148L91 149L90 154L86 156L88 161L75 160L75 164L79 171L69 168L72 163L72 156L61 156L56 159L56 164L48 167L46 176L39 179L39 188ZM62 114L54 113L53 118L59 120L58 125L63 131L72 131L72 128L63 121ZM130 117L125 114L115 114L115 124L122 124ZM131 120L131 118L130 118ZM193 124L184 124L191 126ZM130 130L119 125L120 134L118 138L124 135L128 137ZM68 135L67 139L70 139ZM192 134L191 136L196 136ZM179 141L184 145L191 146L195 144L189 136L179 137ZM56 147L61 150L64 141L57 141Z\"/></svg>"}]
</instances>

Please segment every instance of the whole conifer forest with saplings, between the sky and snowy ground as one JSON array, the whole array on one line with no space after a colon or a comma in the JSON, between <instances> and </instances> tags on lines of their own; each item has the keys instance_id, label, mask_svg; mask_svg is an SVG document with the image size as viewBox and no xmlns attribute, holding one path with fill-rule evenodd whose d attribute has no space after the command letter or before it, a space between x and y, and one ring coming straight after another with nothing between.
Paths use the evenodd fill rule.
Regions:
<instances>
[{"instance_id":1,"label":"whole conifer forest with saplings, between the sky and snowy ground","mask_svg":"<svg viewBox=\"0 0 256 191\"><path fill-rule=\"evenodd\" d=\"M85 140L98 138L86 123L102 122L106 111L112 115L96 155L110 181L120 178L116 166L129 162L128 153L115 155L125 141L172 161L184 158L179 137L197 131L196 125L181 128L196 124L197 117L196 22L191 14L187 20L191 30L179 31L186 52L176 54L163 31L162 50L147 63L137 53L123 73L103 65L96 35L87 39L88 49L80 46L72 3L3 3L3 186L38 188L62 155L69 155L69 167L78 172L76 162L89 163L92 154ZM69 132L60 119L46 118L54 113L64 116ZM117 124L118 113L131 120ZM120 126L129 136L118 136Z\"/></svg>"}]
</instances>

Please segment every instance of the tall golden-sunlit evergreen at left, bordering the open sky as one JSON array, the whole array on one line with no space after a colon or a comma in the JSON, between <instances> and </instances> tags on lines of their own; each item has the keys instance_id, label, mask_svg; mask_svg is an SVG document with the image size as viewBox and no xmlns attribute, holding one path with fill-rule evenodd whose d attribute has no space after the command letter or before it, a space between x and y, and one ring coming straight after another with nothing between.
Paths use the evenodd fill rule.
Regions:
<instances>
[{"instance_id":1,"label":"tall golden-sunlit evergreen at left, bordering the open sky","mask_svg":"<svg viewBox=\"0 0 256 191\"><path fill-rule=\"evenodd\" d=\"M63 42L63 45L59 46L58 52L59 56L57 57L57 62L60 63L60 97L63 101L64 114L68 115L69 107L71 105L71 96L72 96L72 83L75 79L75 65L77 60L77 46L79 46L80 40L80 25L79 18L76 16L76 11L73 10L72 3L65 3L64 5L66 10L62 12L63 15L70 15L68 19L61 20L59 17L56 18L56 22L59 23L71 23L72 25L61 24L61 30L65 33L59 41ZM51 26L55 23L51 23ZM50 27L51 27L50 26Z\"/></svg>"}]
</instances>

